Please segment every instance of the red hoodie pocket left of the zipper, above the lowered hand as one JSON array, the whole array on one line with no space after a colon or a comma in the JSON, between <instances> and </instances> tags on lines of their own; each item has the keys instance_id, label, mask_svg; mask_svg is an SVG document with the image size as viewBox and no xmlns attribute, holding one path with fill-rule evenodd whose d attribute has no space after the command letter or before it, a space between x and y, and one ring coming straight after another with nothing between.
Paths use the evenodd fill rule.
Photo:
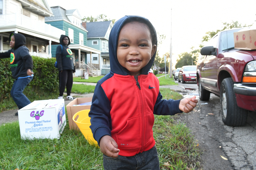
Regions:
<instances>
[{"instance_id":1,"label":"red hoodie pocket left of the zipper, above the lowered hand","mask_svg":"<svg viewBox=\"0 0 256 170\"><path fill-rule=\"evenodd\" d=\"M118 149L140 148L141 121L141 116L127 119L125 127L116 135Z\"/></svg>"}]
</instances>

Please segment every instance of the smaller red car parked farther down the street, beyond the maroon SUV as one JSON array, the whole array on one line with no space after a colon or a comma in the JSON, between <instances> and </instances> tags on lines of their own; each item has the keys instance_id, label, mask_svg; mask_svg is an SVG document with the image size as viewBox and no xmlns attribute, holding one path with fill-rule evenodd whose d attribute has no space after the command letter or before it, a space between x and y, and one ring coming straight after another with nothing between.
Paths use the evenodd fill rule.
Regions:
<instances>
[{"instance_id":1,"label":"smaller red car parked farther down the street, beyond the maroon SUV","mask_svg":"<svg viewBox=\"0 0 256 170\"><path fill-rule=\"evenodd\" d=\"M178 82L184 84L186 82L195 82L196 81L196 74L197 73L197 66L183 66L178 75Z\"/></svg>"}]
</instances>

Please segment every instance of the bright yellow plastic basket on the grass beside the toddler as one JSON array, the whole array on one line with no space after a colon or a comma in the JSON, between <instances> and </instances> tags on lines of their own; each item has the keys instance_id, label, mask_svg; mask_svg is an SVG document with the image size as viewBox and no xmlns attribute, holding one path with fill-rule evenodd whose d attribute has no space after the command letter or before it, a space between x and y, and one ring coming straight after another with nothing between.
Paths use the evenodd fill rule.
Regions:
<instances>
[{"instance_id":1,"label":"bright yellow plastic basket on the grass beside the toddler","mask_svg":"<svg viewBox=\"0 0 256 170\"><path fill-rule=\"evenodd\" d=\"M93 138L93 133L90 129L90 117L88 116L90 110L82 110L74 114L73 121L76 123L82 134L84 135L85 139L91 144L98 146L97 141ZM78 118L75 120L75 118Z\"/></svg>"}]
</instances>

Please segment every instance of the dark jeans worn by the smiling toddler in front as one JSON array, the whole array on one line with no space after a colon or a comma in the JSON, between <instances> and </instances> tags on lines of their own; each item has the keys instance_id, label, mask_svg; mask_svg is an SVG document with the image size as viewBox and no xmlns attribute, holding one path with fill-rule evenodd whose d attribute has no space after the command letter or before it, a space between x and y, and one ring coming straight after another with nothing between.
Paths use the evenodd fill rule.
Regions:
<instances>
[{"instance_id":1,"label":"dark jeans worn by the smiling toddler in front","mask_svg":"<svg viewBox=\"0 0 256 170\"><path fill-rule=\"evenodd\" d=\"M160 170L156 146L134 156L111 158L103 154L104 170Z\"/></svg>"}]
</instances>

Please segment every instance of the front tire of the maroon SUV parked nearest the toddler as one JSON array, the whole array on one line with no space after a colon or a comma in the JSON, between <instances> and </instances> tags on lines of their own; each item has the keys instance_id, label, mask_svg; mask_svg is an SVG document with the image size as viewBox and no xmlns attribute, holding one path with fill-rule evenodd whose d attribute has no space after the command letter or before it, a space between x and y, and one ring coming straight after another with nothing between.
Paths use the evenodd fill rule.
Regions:
<instances>
[{"instance_id":1,"label":"front tire of the maroon SUV parked nearest the toddler","mask_svg":"<svg viewBox=\"0 0 256 170\"><path fill-rule=\"evenodd\" d=\"M221 83L222 121L228 126L243 126L247 120L248 111L237 106L232 78L226 78Z\"/></svg>"}]
</instances>

